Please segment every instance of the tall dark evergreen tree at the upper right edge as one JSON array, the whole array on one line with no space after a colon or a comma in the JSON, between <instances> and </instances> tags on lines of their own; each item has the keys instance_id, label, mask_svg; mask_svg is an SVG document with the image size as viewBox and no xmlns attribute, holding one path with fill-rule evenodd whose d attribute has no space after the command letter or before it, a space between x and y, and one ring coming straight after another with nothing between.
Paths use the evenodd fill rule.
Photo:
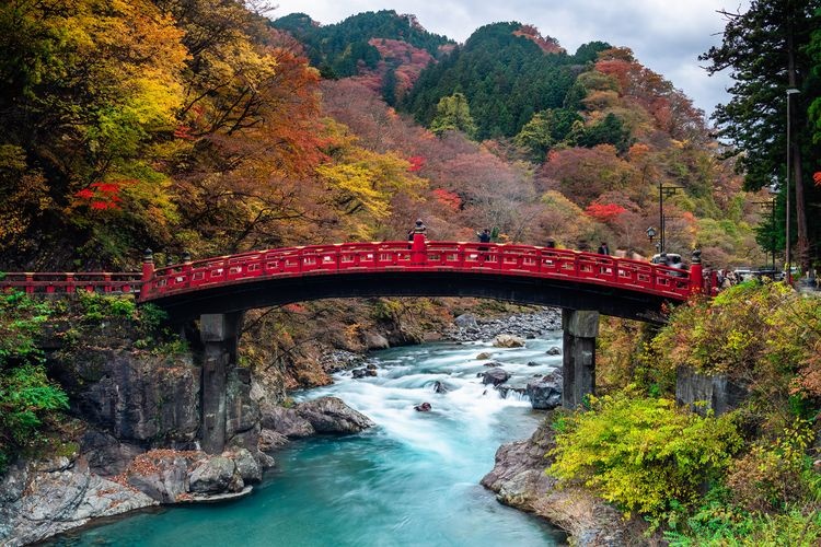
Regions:
<instances>
[{"instance_id":1,"label":"tall dark evergreen tree at the upper right edge","mask_svg":"<svg viewBox=\"0 0 821 547\"><path fill-rule=\"evenodd\" d=\"M790 117L797 255L805 268L810 263L810 233L818 241L821 231L817 217L808 223L805 184L805 160L818 156L807 112L821 95L818 80L810 78L813 62L808 55L811 33L821 25L820 9L821 0L753 0L747 13L722 12L728 20L724 40L701 57L712 62L709 73L732 70L732 98L718 105L714 118L721 136L737 147L748 189L784 181L786 119ZM791 112L787 113L789 89L799 93L790 98ZM783 184L782 191L788 187ZM810 194L810 199L818 199L817 190Z\"/></svg>"}]
</instances>

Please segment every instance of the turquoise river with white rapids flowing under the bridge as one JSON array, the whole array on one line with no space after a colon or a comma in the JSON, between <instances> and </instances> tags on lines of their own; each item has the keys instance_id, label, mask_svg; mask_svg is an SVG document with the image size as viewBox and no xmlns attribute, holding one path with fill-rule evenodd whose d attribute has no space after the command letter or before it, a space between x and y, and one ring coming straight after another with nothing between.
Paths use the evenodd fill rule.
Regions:
<instances>
[{"instance_id":1,"label":"turquoise river with white rapids flowing under the bridge","mask_svg":"<svg viewBox=\"0 0 821 547\"><path fill-rule=\"evenodd\" d=\"M299 441L275 454L277 468L245 499L171 507L63 536L62 545L544 546L565 535L499 504L479 479L498 446L530 437L543 414L516 392L502 398L477 374L487 361L508 384L560 366L546 354L560 338L525 348L428 344L374 353L378 375L337 375L298 399L333 395L377 427L342 438ZM530 365L528 363L531 363ZM534 365L535 363L535 365ZM444 393L436 393L439 382ZM431 410L414 406L429 403Z\"/></svg>"}]
</instances>

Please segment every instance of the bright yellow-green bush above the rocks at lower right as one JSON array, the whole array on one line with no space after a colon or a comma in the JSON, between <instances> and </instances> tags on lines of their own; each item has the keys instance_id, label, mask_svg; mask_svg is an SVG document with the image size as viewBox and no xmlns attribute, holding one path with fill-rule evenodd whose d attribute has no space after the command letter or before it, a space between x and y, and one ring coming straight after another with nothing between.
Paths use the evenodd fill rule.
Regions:
<instances>
[{"instance_id":1,"label":"bright yellow-green bush above the rocks at lower right","mask_svg":"<svg viewBox=\"0 0 821 547\"><path fill-rule=\"evenodd\" d=\"M741 445L730 417L703 418L670 399L627 389L590 403L590 411L565 418L547 472L651 522L697 502L699 488L722 477Z\"/></svg>"}]
</instances>

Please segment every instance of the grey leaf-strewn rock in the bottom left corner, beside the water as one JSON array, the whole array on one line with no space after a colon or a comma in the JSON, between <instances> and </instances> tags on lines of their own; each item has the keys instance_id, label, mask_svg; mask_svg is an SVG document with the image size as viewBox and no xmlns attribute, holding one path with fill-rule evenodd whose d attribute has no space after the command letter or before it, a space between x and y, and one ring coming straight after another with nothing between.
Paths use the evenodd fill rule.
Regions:
<instances>
[{"instance_id":1,"label":"grey leaf-strewn rock in the bottom left corner, beside the water","mask_svg":"<svg viewBox=\"0 0 821 547\"><path fill-rule=\"evenodd\" d=\"M41 542L91 519L157 504L142 492L91 473L82 458L21 462L0 481L0 545Z\"/></svg>"}]
</instances>

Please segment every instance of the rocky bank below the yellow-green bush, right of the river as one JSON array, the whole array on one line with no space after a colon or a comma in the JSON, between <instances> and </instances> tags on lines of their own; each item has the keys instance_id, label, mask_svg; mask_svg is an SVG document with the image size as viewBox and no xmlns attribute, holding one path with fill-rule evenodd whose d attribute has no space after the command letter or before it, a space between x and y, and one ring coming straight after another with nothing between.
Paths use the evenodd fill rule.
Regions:
<instances>
[{"instance_id":1,"label":"rocky bank below the yellow-green bush, right of the river","mask_svg":"<svg viewBox=\"0 0 821 547\"><path fill-rule=\"evenodd\" d=\"M555 446L553 430L544 422L527 441L504 444L496 452L494 469L482 485L496 492L506 505L534 513L567 531L574 545L654 545L644 537L644 525L625 521L613 507L578 487L556 488L556 479L544 473Z\"/></svg>"}]
</instances>

